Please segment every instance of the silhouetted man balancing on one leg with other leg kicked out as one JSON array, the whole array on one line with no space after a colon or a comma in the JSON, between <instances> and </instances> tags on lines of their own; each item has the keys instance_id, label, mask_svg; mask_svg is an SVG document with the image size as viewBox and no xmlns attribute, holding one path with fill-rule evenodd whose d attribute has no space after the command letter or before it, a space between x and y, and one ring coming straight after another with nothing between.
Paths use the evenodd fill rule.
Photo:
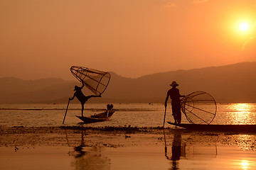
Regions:
<instances>
[{"instance_id":1,"label":"silhouetted man balancing on one leg with other leg kicked out","mask_svg":"<svg viewBox=\"0 0 256 170\"><path fill-rule=\"evenodd\" d=\"M74 93L74 96L72 98L69 98L70 101L72 101L75 97L78 98L78 101L80 101L81 105L82 105L82 117L83 117L83 110L84 110L84 105L85 105L85 102L89 99L89 98L92 98L92 97L101 97L101 94L100 96L96 96L96 95L90 95L90 96L85 96L84 94L82 94L82 88L85 86L85 84L82 82L82 86L81 87L78 87L78 86L75 86L75 93Z\"/></svg>"}]
</instances>

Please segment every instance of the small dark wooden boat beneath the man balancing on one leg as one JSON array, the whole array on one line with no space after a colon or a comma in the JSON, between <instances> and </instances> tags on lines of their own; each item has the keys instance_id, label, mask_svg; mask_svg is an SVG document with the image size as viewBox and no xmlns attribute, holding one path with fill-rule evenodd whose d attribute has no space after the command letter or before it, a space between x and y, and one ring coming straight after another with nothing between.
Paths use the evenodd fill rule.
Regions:
<instances>
[{"instance_id":1,"label":"small dark wooden boat beneath the man balancing on one leg","mask_svg":"<svg viewBox=\"0 0 256 170\"><path fill-rule=\"evenodd\" d=\"M114 111L105 111L103 113L98 113L91 116L79 116L75 115L76 117L80 118L83 123L97 123L97 122L104 122L110 120L110 117L113 115Z\"/></svg>"}]
</instances>

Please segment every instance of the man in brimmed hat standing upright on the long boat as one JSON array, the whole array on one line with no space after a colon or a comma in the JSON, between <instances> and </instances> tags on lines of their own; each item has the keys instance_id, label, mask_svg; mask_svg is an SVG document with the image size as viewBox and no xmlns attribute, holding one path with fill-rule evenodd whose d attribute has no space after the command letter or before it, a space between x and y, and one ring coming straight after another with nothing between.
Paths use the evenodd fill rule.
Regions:
<instances>
[{"instance_id":1,"label":"man in brimmed hat standing upright on the long boat","mask_svg":"<svg viewBox=\"0 0 256 170\"><path fill-rule=\"evenodd\" d=\"M165 106L165 108L167 107L167 101L170 96L172 115L174 115L175 123L180 124L181 123L181 99L180 99L180 97L185 97L185 96L181 96L181 94L179 93L179 90L176 89L176 86L178 86L176 81L173 81L170 84L170 86L172 86L172 88L167 92L164 106Z\"/></svg>"}]
</instances>

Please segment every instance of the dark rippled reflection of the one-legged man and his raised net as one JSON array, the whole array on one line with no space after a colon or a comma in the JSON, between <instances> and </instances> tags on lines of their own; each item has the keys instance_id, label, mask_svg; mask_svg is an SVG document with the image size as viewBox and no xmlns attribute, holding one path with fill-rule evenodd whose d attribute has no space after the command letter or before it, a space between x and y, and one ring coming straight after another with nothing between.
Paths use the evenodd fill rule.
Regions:
<instances>
[{"instance_id":1,"label":"dark rippled reflection of the one-legged man and his raised net","mask_svg":"<svg viewBox=\"0 0 256 170\"><path fill-rule=\"evenodd\" d=\"M87 147L84 142L84 132L81 132L81 144L74 147L70 156L75 159L71 162L71 167L75 170L110 170L110 159L102 155L102 147Z\"/></svg>"}]
</instances>

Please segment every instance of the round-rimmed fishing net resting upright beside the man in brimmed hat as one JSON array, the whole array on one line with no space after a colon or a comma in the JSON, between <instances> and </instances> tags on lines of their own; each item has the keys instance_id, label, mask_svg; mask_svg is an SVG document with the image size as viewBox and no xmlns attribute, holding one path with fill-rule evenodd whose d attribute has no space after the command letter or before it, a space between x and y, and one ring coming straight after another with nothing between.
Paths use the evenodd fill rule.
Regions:
<instances>
[{"instance_id":1,"label":"round-rimmed fishing net resting upright beside the man in brimmed hat","mask_svg":"<svg viewBox=\"0 0 256 170\"><path fill-rule=\"evenodd\" d=\"M196 91L181 100L181 111L189 123L210 124L215 118L217 106L213 96Z\"/></svg>"}]
</instances>

